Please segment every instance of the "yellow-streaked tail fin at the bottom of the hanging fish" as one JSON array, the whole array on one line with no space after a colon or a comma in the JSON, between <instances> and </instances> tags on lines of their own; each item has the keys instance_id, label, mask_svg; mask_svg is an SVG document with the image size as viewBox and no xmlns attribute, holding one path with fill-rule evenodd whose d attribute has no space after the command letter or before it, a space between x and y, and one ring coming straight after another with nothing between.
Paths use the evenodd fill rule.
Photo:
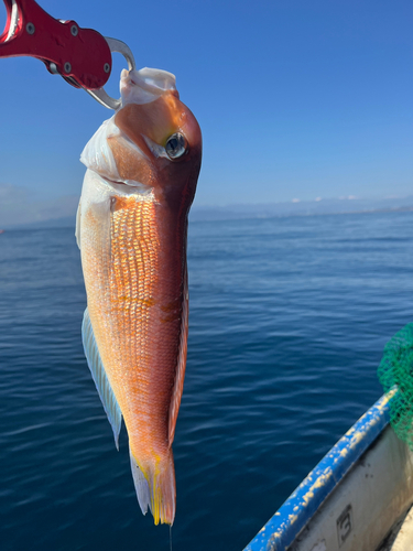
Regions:
<instances>
[{"instance_id":1,"label":"yellow-streaked tail fin at the bottom of the hanging fish","mask_svg":"<svg viewBox=\"0 0 413 551\"><path fill-rule=\"evenodd\" d=\"M155 525L173 525L176 507L175 467L172 450L154 468L145 472L130 451L132 476L143 515L151 509Z\"/></svg>"}]
</instances>

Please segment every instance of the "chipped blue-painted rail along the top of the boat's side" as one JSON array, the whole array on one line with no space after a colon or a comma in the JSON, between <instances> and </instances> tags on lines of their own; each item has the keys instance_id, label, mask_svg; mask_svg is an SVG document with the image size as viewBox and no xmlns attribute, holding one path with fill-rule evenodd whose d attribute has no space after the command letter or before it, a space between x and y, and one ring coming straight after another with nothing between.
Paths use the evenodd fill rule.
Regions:
<instances>
[{"instance_id":1,"label":"chipped blue-painted rail along the top of the boat's side","mask_svg":"<svg viewBox=\"0 0 413 551\"><path fill-rule=\"evenodd\" d=\"M244 551L285 551L318 507L389 424L389 401L384 395L332 447L301 483Z\"/></svg>"}]
</instances>

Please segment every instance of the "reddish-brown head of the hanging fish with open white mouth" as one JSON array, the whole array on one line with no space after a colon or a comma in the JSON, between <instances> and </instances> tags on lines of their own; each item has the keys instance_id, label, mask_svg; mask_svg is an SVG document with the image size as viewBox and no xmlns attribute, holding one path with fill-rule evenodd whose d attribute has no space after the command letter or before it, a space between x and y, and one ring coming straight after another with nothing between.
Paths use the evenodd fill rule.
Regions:
<instances>
[{"instance_id":1,"label":"reddish-brown head of the hanging fish with open white mouth","mask_svg":"<svg viewBox=\"0 0 413 551\"><path fill-rule=\"evenodd\" d=\"M202 134L180 100L174 75L150 68L123 71L120 90L122 107L106 132L115 163L110 180L189 207L200 169Z\"/></svg>"}]
</instances>

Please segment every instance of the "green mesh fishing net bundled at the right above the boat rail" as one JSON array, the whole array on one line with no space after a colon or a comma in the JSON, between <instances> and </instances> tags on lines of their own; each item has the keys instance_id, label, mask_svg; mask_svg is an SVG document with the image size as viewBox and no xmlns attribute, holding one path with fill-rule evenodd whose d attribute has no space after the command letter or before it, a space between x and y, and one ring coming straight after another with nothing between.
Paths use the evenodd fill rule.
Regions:
<instances>
[{"instance_id":1,"label":"green mesh fishing net bundled at the right above the boat rail","mask_svg":"<svg viewBox=\"0 0 413 551\"><path fill-rule=\"evenodd\" d=\"M384 346L378 376L384 392L398 389L390 400L390 422L396 435L413 451L413 323Z\"/></svg>"}]
</instances>

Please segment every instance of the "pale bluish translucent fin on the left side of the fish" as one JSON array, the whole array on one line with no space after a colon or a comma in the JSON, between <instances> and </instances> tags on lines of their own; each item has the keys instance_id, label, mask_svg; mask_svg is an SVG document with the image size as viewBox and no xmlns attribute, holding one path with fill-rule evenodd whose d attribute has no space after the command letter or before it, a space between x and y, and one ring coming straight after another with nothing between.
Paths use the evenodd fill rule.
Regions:
<instances>
[{"instance_id":1,"label":"pale bluish translucent fin on the left side of the fish","mask_svg":"<svg viewBox=\"0 0 413 551\"><path fill-rule=\"evenodd\" d=\"M101 403L104 404L109 423L113 430L116 446L119 450L119 432L122 422L122 412L115 397L112 387L110 386L108 376L106 375L87 309L85 310L81 324L81 341L84 343L87 365L89 366Z\"/></svg>"}]
</instances>

